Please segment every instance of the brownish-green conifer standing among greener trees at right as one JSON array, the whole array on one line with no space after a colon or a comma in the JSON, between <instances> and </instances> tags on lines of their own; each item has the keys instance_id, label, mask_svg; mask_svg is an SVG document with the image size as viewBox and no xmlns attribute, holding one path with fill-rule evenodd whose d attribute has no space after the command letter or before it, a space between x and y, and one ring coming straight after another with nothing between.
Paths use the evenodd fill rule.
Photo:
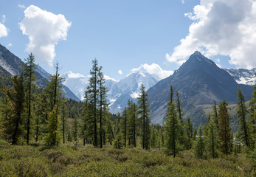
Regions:
<instances>
[{"instance_id":1,"label":"brownish-green conifer standing among greener trees at right","mask_svg":"<svg viewBox=\"0 0 256 177\"><path fill-rule=\"evenodd\" d=\"M218 139L220 142L220 150L224 154L229 154L232 149L232 132L230 128L230 117L225 101L218 105Z\"/></svg>"}]
</instances>

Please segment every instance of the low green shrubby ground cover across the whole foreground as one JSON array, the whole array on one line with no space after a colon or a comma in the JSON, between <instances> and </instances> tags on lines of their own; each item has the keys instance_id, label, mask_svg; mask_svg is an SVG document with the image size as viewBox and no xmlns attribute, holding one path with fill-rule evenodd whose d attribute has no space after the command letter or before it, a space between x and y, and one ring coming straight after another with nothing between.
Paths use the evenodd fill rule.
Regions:
<instances>
[{"instance_id":1,"label":"low green shrubby ground cover across the whole foreground","mask_svg":"<svg viewBox=\"0 0 256 177\"><path fill-rule=\"evenodd\" d=\"M245 156L173 159L162 150L94 148L72 143L54 149L12 146L0 140L0 176L253 176Z\"/></svg>"}]
</instances>

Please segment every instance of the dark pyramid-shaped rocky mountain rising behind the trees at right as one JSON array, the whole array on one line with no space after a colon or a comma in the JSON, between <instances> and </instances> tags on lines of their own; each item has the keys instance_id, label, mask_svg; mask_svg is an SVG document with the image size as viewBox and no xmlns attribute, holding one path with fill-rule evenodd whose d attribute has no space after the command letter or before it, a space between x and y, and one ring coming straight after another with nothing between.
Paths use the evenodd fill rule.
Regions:
<instances>
[{"instance_id":1,"label":"dark pyramid-shaped rocky mountain rising behind the trees at right","mask_svg":"<svg viewBox=\"0 0 256 177\"><path fill-rule=\"evenodd\" d=\"M238 87L247 100L252 95L252 86L238 84L228 72L196 51L173 75L148 89L153 124L161 124L165 119L170 85L180 94L184 117L190 117L196 126L206 121L203 107L212 105L213 100L235 103Z\"/></svg>"}]
</instances>

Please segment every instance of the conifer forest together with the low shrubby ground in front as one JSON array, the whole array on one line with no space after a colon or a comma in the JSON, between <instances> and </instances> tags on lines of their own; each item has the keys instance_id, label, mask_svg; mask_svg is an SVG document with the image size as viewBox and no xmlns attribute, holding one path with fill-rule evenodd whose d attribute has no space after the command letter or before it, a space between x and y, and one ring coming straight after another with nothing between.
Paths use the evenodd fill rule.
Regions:
<instances>
[{"instance_id":1,"label":"conifer forest together with the low shrubby ground in front","mask_svg":"<svg viewBox=\"0 0 256 177\"><path fill-rule=\"evenodd\" d=\"M111 114L97 59L83 102L65 98L58 63L45 87L35 69L31 53L20 74L0 75L0 176L256 175L256 86L251 100L238 88L238 130L225 100L194 127L171 85L165 122L153 125L143 84L136 101Z\"/></svg>"}]
</instances>

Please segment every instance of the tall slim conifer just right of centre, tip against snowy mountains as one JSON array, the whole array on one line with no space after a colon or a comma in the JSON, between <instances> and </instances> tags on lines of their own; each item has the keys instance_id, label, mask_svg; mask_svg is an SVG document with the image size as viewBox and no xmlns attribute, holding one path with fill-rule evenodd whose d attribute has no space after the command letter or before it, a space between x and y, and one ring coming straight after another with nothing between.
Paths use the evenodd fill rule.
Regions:
<instances>
[{"instance_id":1,"label":"tall slim conifer just right of centre, tip against snowy mountains","mask_svg":"<svg viewBox=\"0 0 256 177\"><path fill-rule=\"evenodd\" d=\"M139 119L142 122L142 148L149 149L149 134L150 134L150 110L148 103L148 94L145 91L145 86L141 86L141 94L139 94L139 108L138 113L140 115Z\"/></svg>"}]
</instances>

